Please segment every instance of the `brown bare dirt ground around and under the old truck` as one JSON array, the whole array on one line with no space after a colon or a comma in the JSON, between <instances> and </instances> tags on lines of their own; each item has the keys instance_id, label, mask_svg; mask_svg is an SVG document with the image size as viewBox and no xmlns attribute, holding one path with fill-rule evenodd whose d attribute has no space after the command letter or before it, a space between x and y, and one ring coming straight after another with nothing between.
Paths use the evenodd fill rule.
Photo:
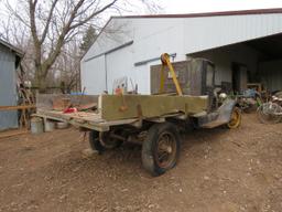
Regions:
<instances>
[{"instance_id":1,"label":"brown bare dirt ground around and under the old truck","mask_svg":"<svg viewBox=\"0 0 282 212\"><path fill-rule=\"evenodd\" d=\"M72 128L0 139L0 211L282 211L282 124L243 115L183 140L177 167L152 178L140 147L86 157Z\"/></svg>"}]
</instances>

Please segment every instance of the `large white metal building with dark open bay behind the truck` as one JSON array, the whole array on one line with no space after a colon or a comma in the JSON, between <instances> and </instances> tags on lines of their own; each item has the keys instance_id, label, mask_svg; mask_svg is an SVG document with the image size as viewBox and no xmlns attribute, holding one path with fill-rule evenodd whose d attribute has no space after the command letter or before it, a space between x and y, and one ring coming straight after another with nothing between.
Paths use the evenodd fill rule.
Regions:
<instances>
[{"instance_id":1,"label":"large white metal building with dark open bay behind the truck","mask_svg":"<svg viewBox=\"0 0 282 212\"><path fill-rule=\"evenodd\" d=\"M82 60L82 86L111 93L127 76L150 94L150 66L162 53L213 61L217 85L239 78L282 89L282 9L113 17Z\"/></svg>"}]
</instances>

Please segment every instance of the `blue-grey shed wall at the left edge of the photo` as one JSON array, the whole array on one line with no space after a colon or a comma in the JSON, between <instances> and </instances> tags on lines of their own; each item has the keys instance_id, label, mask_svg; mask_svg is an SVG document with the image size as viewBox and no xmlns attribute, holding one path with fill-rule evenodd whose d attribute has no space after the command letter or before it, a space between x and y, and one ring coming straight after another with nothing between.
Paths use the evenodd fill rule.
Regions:
<instances>
[{"instance_id":1,"label":"blue-grey shed wall at the left edge of the photo","mask_svg":"<svg viewBox=\"0 0 282 212\"><path fill-rule=\"evenodd\" d=\"M17 95L15 55L0 45L0 105L15 106ZM18 112L0 112L0 130L18 127Z\"/></svg>"}]
</instances>

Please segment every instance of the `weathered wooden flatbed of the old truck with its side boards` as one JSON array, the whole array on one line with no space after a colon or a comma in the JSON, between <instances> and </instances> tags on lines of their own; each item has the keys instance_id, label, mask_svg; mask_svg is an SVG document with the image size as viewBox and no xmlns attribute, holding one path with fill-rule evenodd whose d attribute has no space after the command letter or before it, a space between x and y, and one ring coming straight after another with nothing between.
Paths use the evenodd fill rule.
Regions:
<instances>
[{"instance_id":1,"label":"weathered wooden flatbed of the old truck with its side boards","mask_svg":"<svg viewBox=\"0 0 282 212\"><path fill-rule=\"evenodd\" d=\"M62 95L59 97L63 98ZM50 100L46 100L46 98L50 98ZM52 102L55 98L57 98L57 96L44 95L44 102ZM96 112L77 112L69 114L63 113L62 110L54 110L52 107L44 105L45 108L37 107L35 116L50 120L66 121L80 128L109 131L110 127L119 125L141 127L142 120L163 123L165 118L169 117L185 119L188 115L203 113L207 107L207 97L101 95L98 105L99 107Z\"/></svg>"}]
</instances>

